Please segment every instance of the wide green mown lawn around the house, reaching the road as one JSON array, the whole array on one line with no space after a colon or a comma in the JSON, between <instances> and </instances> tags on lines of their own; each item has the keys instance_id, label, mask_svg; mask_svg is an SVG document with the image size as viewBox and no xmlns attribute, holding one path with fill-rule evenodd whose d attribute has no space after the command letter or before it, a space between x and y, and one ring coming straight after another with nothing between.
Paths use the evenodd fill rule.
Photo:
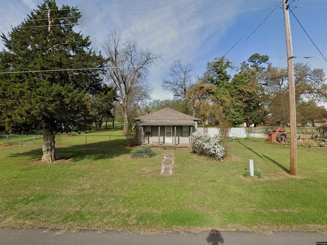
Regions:
<instances>
[{"instance_id":1,"label":"wide green mown lawn around the house, reaching the road","mask_svg":"<svg viewBox=\"0 0 327 245\"><path fill-rule=\"evenodd\" d=\"M326 148L298 148L296 177L286 145L229 142L223 162L177 149L161 176L164 150L134 159L120 140L59 144L53 164L40 146L0 147L0 227L327 232ZM248 159L261 179L242 176Z\"/></svg>"}]
</instances>

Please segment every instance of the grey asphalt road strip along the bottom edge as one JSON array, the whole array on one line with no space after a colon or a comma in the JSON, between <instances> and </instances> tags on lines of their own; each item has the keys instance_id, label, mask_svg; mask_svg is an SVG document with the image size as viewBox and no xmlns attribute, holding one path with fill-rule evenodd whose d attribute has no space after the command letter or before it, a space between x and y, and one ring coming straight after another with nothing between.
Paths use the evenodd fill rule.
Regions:
<instances>
[{"instance_id":1,"label":"grey asphalt road strip along the bottom edge","mask_svg":"<svg viewBox=\"0 0 327 245\"><path fill-rule=\"evenodd\" d=\"M61 232L45 229L0 228L1 245L327 245L327 234L315 232L201 232L139 234L120 231Z\"/></svg>"}]
</instances>

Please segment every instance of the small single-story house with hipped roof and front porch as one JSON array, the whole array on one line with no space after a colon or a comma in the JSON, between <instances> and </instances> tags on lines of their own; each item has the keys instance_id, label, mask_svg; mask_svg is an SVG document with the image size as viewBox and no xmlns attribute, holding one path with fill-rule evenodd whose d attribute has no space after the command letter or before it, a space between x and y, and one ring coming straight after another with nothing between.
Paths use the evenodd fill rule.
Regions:
<instances>
[{"instance_id":1,"label":"small single-story house with hipped roof and front porch","mask_svg":"<svg viewBox=\"0 0 327 245\"><path fill-rule=\"evenodd\" d=\"M134 118L139 144L187 145L196 131L198 118L164 108Z\"/></svg>"}]
</instances>

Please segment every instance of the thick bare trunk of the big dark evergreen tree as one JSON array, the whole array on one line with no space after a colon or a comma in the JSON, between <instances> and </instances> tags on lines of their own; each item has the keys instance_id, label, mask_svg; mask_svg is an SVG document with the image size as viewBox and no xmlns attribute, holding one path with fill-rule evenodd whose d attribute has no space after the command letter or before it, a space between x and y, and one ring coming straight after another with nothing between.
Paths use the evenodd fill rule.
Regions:
<instances>
[{"instance_id":1,"label":"thick bare trunk of the big dark evergreen tree","mask_svg":"<svg viewBox=\"0 0 327 245\"><path fill-rule=\"evenodd\" d=\"M42 162L50 163L56 161L55 135L49 129L45 128L43 128L42 151Z\"/></svg>"}]
</instances>

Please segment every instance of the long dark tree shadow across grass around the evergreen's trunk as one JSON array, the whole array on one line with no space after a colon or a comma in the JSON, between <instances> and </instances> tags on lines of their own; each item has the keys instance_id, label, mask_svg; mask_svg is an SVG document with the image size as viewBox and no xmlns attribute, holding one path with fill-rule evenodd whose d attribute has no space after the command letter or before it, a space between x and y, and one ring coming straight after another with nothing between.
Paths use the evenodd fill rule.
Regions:
<instances>
[{"instance_id":1,"label":"long dark tree shadow across grass around the evergreen's trunk","mask_svg":"<svg viewBox=\"0 0 327 245\"><path fill-rule=\"evenodd\" d=\"M117 142L116 142L117 141ZM110 145L109 145L110 143ZM121 145L119 145L121 143ZM124 143L124 144L123 144ZM80 160L101 160L118 157L124 154L129 154L130 149L126 145L126 140L111 140L89 143L87 145L72 145L72 146L57 146L56 158L71 159L72 161ZM37 148L30 151L15 153L10 157L28 156L31 159L41 159L42 149Z\"/></svg>"}]
</instances>

